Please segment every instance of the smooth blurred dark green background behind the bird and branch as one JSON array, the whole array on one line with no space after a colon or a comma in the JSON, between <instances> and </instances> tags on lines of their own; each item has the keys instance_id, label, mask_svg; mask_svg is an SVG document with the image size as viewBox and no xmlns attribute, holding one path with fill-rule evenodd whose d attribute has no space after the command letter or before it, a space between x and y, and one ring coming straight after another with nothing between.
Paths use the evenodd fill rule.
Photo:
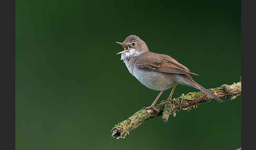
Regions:
<instances>
[{"instance_id":1,"label":"smooth blurred dark green background behind the bird and branch","mask_svg":"<svg viewBox=\"0 0 256 150\"><path fill-rule=\"evenodd\" d=\"M16 149L241 147L241 97L181 111L168 124L155 117L125 139L110 136L158 94L129 73L115 41L135 34L214 88L240 80L240 21L237 0L16 1ZM178 85L173 97L193 91Z\"/></svg>"}]
</instances>

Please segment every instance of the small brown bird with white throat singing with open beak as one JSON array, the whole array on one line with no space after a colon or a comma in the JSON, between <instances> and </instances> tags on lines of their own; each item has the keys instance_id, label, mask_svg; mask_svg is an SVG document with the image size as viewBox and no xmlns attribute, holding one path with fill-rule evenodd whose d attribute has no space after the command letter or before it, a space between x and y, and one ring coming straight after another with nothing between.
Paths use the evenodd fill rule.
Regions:
<instances>
[{"instance_id":1,"label":"small brown bird with white throat singing with open beak","mask_svg":"<svg viewBox=\"0 0 256 150\"><path fill-rule=\"evenodd\" d=\"M172 94L177 84L188 85L210 95L219 102L223 102L210 91L196 83L190 74L198 76L198 74L190 72L188 68L181 65L172 57L160 53L149 51L145 42L138 36L130 35L125 38L124 42L116 42L124 47L124 50L116 54L121 54L121 60L125 63L129 72L139 80L147 88L160 91L151 106L145 109L153 109L161 94L172 88L168 101L173 101Z\"/></svg>"}]
</instances>

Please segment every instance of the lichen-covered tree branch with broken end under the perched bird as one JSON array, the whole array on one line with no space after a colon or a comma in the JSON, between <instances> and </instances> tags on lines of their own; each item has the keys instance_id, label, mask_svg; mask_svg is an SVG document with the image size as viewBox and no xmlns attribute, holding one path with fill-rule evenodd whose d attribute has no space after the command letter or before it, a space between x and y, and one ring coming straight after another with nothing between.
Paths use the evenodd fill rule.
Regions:
<instances>
[{"instance_id":1,"label":"lichen-covered tree branch with broken end under the perched bird","mask_svg":"<svg viewBox=\"0 0 256 150\"><path fill-rule=\"evenodd\" d=\"M210 90L216 97L219 98L228 98L234 100L239 95L241 95L241 82L234 83L231 85L221 85L220 87ZM204 94L203 92L193 92L188 94L182 94L181 97L174 99L176 102L161 102L155 106L156 109L159 109L160 112L157 113L154 110L140 110L130 116L127 120L116 124L112 130L111 135L114 138L125 138L131 130L134 130L136 127L141 125L144 121L151 119L155 116L162 115L162 120L164 123L168 122L169 115L176 115L176 112L180 110L190 110L197 107L198 104L205 101L209 101L212 98L209 95Z\"/></svg>"}]
</instances>

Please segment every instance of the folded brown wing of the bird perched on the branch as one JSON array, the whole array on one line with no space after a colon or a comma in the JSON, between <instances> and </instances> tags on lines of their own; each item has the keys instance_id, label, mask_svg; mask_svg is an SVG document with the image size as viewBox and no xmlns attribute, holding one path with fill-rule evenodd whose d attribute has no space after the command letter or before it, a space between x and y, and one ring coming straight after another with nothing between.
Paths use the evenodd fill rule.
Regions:
<instances>
[{"instance_id":1,"label":"folded brown wing of the bird perched on the branch","mask_svg":"<svg viewBox=\"0 0 256 150\"><path fill-rule=\"evenodd\" d=\"M181 65L172 57L151 51L144 52L135 60L136 66L147 71L156 71L174 74L198 74L190 72L188 68Z\"/></svg>"}]
</instances>

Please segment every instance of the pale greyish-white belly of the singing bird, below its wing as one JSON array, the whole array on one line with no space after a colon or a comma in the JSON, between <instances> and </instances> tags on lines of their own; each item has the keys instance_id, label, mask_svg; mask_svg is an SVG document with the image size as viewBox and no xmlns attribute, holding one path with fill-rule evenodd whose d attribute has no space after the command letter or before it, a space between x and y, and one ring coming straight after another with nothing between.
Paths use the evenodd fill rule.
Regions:
<instances>
[{"instance_id":1,"label":"pale greyish-white belly of the singing bird, below its wing","mask_svg":"<svg viewBox=\"0 0 256 150\"><path fill-rule=\"evenodd\" d=\"M176 81L179 78L178 74L175 75L162 72L144 71L136 67L132 74L147 88L157 91L167 90L173 87L174 84L177 84Z\"/></svg>"}]
</instances>

